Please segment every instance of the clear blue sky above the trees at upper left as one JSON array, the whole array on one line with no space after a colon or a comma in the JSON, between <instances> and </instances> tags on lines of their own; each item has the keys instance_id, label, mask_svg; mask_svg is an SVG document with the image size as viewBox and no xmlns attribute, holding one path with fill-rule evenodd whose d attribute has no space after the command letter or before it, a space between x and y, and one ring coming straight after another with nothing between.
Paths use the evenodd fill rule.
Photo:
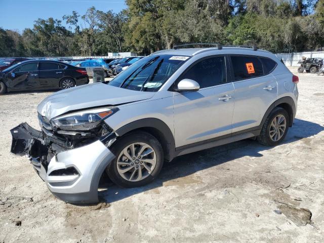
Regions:
<instances>
[{"instance_id":1,"label":"clear blue sky above the trees at upper left","mask_svg":"<svg viewBox=\"0 0 324 243\"><path fill-rule=\"evenodd\" d=\"M38 18L62 20L63 15L70 15L72 11L83 15L92 6L115 13L126 8L125 0L0 0L0 27L21 32L32 28Z\"/></svg>"}]
</instances>

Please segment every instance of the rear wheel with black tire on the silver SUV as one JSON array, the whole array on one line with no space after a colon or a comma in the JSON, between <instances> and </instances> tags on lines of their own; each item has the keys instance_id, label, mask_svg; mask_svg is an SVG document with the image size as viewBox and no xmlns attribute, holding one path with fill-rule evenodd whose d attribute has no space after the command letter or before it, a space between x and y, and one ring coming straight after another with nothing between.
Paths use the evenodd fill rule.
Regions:
<instances>
[{"instance_id":1,"label":"rear wheel with black tire on the silver SUV","mask_svg":"<svg viewBox=\"0 0 324 243\"><path fill-rule=\"evenodd\" d=\"M260 135L259 143L266 146L276 146L285 139L289 127L289 115L284 108L275 107L266 118Z\"/></svg>"}]
</instances>

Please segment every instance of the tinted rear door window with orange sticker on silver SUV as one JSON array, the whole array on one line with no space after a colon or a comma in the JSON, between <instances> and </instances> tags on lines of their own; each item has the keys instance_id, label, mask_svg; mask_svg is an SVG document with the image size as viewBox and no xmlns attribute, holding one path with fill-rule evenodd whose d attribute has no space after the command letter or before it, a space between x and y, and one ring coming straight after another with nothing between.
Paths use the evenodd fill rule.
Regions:
<instances>
[{"instance_id":1,"label":"tinted rear door window with orange sticker on silver SUV","mask_svg":"<svg viewBox=\"0 0 324 243\"><path fill-rule=\"evenodd\" d=\"M257 57L231 56L235 80L263 75L262 64Z\"/></svg>"}]
</instances>

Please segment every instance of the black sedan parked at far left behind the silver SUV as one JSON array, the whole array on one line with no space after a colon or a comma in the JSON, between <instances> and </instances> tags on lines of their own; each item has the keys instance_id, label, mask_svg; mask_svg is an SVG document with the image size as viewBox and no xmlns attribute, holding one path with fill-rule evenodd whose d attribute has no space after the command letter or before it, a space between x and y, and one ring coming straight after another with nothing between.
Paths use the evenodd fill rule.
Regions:
<instances>
[{"instance_id":1,"label":"black sedan parked at far left behind the silver SUV","mask_svg":"<svg viewBox=\"0 0 324 243\"><path fill-rule=\"evenodd\" d=\"M0 72L0 94L22 90L63 90L88 83L85 68L52 60L24 61Z\"/></svg>"}]
</instances>

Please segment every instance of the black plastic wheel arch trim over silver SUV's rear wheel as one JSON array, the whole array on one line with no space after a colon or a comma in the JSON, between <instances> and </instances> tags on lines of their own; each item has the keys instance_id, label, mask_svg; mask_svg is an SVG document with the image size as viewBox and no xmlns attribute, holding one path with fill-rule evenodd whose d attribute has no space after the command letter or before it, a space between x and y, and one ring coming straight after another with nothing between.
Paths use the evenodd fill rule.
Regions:
<instances>
[{"instance_id":1,"label":"black plastic wheel arch trim over silver SUV's rear wheel","mask_svg":"<svg viewBox=\"0 0 324 243\"><path fill-rule=\"evenodd\" d=\"M288 114L289 114L289 127L293 126L293 121L296 115L296 105L295 102L293 100L292 97L290 96L286 96L286 97L282 97L278 100L276 100L275 102L273 102L270 107L267 109L267 111L265 112L261 124L260 124L260 128L263 127L263 124L266 120L266 118L268 117L268 115L271 113L271 111L275 108L275 107L281 107L284 108Z\"/></svg>"}]
</instances>

